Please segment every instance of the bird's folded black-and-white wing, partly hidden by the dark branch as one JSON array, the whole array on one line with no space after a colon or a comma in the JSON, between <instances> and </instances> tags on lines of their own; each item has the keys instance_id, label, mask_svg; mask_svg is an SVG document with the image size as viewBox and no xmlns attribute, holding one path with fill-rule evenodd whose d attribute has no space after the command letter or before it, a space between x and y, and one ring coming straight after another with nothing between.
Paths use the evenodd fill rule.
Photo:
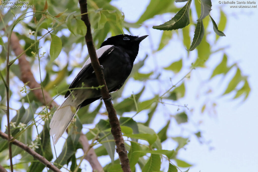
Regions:
<instances>
[{"instance_id":1,"label":"bird's folded black-and-white wing, partly hidden by the dark branch","mask_svg":"<svg viewBox=\"0 0 258 172\"><path fill-rule=\"evenodd\" d=\"M109 53L111 53L114 50L114 48L115 48L114 45L105 45L105 46L99 48L96 51L98 59L102 56L105 56L105 55L108 55ZM88 58L88 60L86 60L86 62L84 63L82 69L78 72L78 74L76 75L76 77L72 81L71 85L69 86L69 89L77 87L77 85L79 84L79 81L82 78L82 76L86 75L87 70L90 69L90 67L92 66L90 64L91 64L91 59ZM70 91L67 91L66 94L65 94L65 98L67 96L69 96L70 93L71 93Z\"/></svg>"}]
</instances>

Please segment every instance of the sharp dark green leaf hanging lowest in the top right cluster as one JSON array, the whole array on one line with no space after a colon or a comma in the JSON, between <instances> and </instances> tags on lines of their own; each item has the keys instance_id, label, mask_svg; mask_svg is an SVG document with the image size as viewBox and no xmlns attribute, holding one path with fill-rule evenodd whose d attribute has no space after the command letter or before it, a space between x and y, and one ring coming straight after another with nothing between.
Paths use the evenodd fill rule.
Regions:
<instances>
[{"instance_id":1,"label":"sharp dark green leaf hanging lowest in the top right cluster","mask_svg":"<svg viewBox=\"0 0 258 172\"><path fill-rule=\"evenodd\" d=\"M187 50L187 51L193 51L201 43L203 36L204 36L203 21L200 20L197 22L197 25L196 25L196 28L194 31L192 44L191 44L189 50Z\"/></svg>"}]
</instances>

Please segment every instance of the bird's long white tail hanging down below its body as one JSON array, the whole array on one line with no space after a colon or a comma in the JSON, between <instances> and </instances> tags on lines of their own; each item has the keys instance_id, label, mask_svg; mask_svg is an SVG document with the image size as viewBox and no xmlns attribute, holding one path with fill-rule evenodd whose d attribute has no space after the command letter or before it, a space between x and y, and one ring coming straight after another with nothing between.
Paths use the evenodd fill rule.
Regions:
<instances>
[{"instance_id":1,"label":"bird's long white tail hanging down below its body","mask_svg":"<svg viewBox=\"0 0 258 172\"><path fill-rule=\"evenodd\" d=\"M54 145L63 135L78 110L78 102L73 100L71 95L57 108L49 125L49 133L53 136Z\"/></svg>"}]
</instances>

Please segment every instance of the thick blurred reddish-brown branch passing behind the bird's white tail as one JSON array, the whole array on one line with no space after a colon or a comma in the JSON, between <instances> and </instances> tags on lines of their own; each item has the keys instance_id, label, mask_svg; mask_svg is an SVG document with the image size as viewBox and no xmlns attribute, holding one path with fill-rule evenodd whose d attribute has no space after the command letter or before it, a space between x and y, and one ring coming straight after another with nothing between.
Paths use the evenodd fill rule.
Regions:
<instances>
[{"instance_id":1,"label":"thick blurred reddish-brown branch passing behind the bird's white tail","mask_svg":"<svg viewBox=\"0 0 258 172\"><path fill-rule=\"evenodd\" d=\"M16 56L20 55L23 52L23 48L21 47L21 45L19 43L19 39L14 33L12 33L10 43L11 43L12 49L14 51L14 54ZM22 54L19 58L19 67L20 67L20 71L21 71L22 82L23 83L29 82L27 85L31 89L33 89L32 91L33 91L34 95L36 96L36 98L42 104L49 105L50 109L53 108L53 107L58 107L58 104L55 101L53 101L50 94L46 90L43 89L44 97L45 97L45 100L46 100L46 104L45 104L44 97L43 97L43 94L42 94L42 90L40 88L41 85L38 84L37 81L35 80L35 78L33 76L33 73L31 72L30 64L26 60L25 54ZM38 88L38 89L34 89L34 88ZM83 137L83 135L80 136L80 140L81 140L81 137ZM82 143L83 150L87 150L88 146L84 147L84 145L86 145L88 143L88 139L84 136L84 138L82 138L82 140L85 142L85 143ZM103 171L103 168L100 165L100 163L98 161L98 158L97 158L97 155L94 151L92 151L89 155L87 155L85 157L85 159L87 161L89 161L93 170Z\"/></svg>"}]
</instances>

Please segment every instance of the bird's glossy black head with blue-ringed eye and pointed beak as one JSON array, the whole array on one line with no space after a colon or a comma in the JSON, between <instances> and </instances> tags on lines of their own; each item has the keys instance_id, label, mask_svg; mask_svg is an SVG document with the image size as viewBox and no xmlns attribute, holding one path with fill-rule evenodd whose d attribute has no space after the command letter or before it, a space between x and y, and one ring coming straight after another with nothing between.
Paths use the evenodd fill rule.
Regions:
<instances>
[{"instance_id":1,"label":"bird's glossy black head with blue-ringed eye and pointed beak","mask_svg":"<svg viewBox=\"0 0 258 172\"><path fill-rule=\"evenodd\" d=\"M100 47L103 47L105 45L114 45L126 51L130 56L135 56L134 58L136 58L139 51L139 44L147 36L148 35L144 35L141 37L126 34L116 35L105 40Z\"/></svg>"}]
</instances>

